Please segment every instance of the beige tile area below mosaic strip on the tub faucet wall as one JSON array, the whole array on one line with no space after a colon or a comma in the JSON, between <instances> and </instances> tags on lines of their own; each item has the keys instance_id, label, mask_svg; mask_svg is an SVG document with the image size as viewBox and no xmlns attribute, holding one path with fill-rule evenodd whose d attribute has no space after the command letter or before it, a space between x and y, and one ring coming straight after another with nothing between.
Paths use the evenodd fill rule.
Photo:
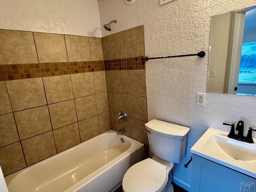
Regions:
<instances>
[{"instance_id":1,"label":"beige tile area below mosaic strip on the tub faucet wall","mask_svg":"<svg viewBox=\"0 0 256 192\"><path fill-rule=\"evenodd\" d=\"M125 135L148 145L145 123L148 121L145 70L106 71L111 128L125 128ZM118 112L127 114L117 123Z\"/></svg>"}]
</instances>

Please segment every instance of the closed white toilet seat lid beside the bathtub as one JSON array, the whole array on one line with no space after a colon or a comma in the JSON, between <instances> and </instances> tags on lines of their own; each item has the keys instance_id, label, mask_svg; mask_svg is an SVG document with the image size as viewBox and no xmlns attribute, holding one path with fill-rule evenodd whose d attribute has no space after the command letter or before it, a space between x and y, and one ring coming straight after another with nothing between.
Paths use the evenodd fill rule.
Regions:
<instances>
[{"instance_id":1,"label":"closed white toilet seat lid beside the bathtub","mask_svg":"<svg viewBox=\"0 0 256 192\"><path fill-rule=\"evenodd\" d=\"M166 166L150 158L131 166L123 179L124 192L158 192L167 182Z\"/></svg>"}]
</instances>

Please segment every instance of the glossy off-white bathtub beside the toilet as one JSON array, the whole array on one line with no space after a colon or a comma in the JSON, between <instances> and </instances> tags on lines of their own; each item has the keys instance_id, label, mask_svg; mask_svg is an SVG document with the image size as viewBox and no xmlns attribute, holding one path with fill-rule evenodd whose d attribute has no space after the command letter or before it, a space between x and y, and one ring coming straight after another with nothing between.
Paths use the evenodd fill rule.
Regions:
<instances>
[{"instance_id":1,"label":"glossy off-white bathtub beside the toilet","mask_svg":"<svg viewBox=\"0 0 256 192\"><path fill-rule=\"evenodd\" d=\"M5 181L9 192L112 192L128 168L143 158L144 144L109 130Z\"/></svg>"}]
</instances>

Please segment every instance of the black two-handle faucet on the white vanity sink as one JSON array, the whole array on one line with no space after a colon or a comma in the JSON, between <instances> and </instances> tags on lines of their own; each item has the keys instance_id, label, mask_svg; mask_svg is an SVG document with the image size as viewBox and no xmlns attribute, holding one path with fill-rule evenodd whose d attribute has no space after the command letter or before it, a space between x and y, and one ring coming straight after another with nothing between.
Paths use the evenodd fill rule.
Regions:
<instances>
[{"instance_id":1,"label":"black two-handle faucet on the white vanity sink","mask_svg":"<svg viewBox=\"0 0 256 192\"><path fill-rule=\"evenodd\" d=\"M236 130L238 131L238 134L235 134L235 124L228 124L228 123L223 123L223 124L231 126L230 133L228 134L229 138L247 142L247 143L254 143L254 141L252 139L252 131L256 131L256 130L249 127L247 136L244 136L244 122L243 121L238 121L238 124L236 125Z\"/></svg>"}]
</instances>

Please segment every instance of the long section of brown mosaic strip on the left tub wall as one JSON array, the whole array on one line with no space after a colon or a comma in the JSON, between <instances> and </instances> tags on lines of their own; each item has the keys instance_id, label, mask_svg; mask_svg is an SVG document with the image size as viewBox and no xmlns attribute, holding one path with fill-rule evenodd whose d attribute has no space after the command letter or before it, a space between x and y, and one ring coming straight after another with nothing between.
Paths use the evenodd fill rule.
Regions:
<instances>
[{"instance_id":1,"label":"long section of brown mosaic strip on the left tub wall","mask_svg":"<svg viewBox=\"0 0 256 192\"><path fill-rule=\"evenodd\" d=\"M0 81L104 71L104 61L0 65Z\"/></svg>"}]
</instances>

